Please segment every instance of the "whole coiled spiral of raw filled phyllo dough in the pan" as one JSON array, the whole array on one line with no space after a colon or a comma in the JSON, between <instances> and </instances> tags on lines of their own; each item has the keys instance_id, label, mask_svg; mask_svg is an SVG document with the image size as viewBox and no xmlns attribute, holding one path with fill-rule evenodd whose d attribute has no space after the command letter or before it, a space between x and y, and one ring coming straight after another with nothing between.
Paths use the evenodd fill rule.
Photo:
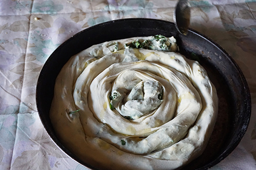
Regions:
<instances>
[{"instance_id":1,"label":"whole coiled spiral of raw filled phyllo dough in the pan","mask_svg":"<svg viewBox=\"0 0 256 170\"><path fill-rule=\"evenodd\" d=\"M206 147L217 115L205 69L174 37L94 45L60 71L50 117L61 143L90 167L175 169Z\"/></svg>"}]
</instances>

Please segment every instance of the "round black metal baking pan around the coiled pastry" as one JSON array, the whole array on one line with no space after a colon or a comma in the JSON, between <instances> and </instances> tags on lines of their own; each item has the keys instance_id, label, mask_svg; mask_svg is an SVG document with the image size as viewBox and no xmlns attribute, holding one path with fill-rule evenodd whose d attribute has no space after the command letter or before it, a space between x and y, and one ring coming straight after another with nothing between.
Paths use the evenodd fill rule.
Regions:
<instances>
[{"instance_id":1,"label":"round black metal baking pan around the coiled pastry","mask_svg":"<svg viewBox=\"0 0 256 170\"><path fill-rule=\"evenodd\" d=\"M179 52L197 60L206 70L217 90L218 116L209 143L201 156L182 169L208 169L227 157L244 136L251 113L250 93L245 77L229 54L205 35L189 29L177 32L174 23L155 19L121 19L89 27L60 45L43 66L37 83L37 108L52 141L72 159L91 168L63 146L53 130L49 110L55 79L65 63L75 54L109 40L161 34L177 39Z\"/></svg>"}]
</instances>

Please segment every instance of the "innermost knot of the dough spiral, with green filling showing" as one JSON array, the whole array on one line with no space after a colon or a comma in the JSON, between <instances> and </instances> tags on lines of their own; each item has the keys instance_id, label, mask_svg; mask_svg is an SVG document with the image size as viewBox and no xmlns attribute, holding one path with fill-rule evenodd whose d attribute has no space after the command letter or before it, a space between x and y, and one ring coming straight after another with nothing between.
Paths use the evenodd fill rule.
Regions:
<instances>
[{"instance_id":1,"label":"innermost knot of the dough spiral, with green filling showing","mask_svg":"<svg viewBox=\"0 0 256 170\"><path fill-rule=\"evenodd\" d=\"M163 87L159 82L136 79L131 85L135 85L133 89L115 83L110 95L111 109L116 109L124 118L138 119L157 109L163 102Z\"/></svg>"}]
</instances>

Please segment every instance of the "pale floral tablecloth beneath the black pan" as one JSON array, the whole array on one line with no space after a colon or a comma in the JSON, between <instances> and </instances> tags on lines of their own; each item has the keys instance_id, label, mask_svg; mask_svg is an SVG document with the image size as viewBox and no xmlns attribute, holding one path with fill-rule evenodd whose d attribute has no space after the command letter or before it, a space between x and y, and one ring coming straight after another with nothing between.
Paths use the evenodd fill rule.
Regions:
<instances>
[{"instance_id":1,"label":"pale floral tablecloth beneath the black pan","mask_svg":"<svg viewBox=\"0 0 256 170\"><path fill-rule=\"evenodd\" d=\"M173 21L177 1L0 0L0 169L86 169L43 128L36 84L50 54L72 35L121 18ZM212 167L256 169L256 1L189 1L190 27L222 46L249 84L252 114L238 147Z\"/></svg>"}]
</instances>

